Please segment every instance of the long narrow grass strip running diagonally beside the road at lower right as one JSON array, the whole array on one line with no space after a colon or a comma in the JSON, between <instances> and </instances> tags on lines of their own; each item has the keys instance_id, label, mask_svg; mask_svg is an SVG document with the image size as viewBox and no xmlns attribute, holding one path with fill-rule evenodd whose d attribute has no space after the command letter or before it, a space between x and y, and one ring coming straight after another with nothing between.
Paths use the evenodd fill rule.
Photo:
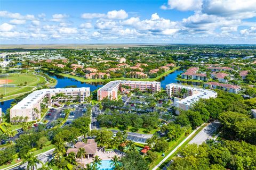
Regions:
<instances>
[{"instance_id":1,"label":"long narrow grass strip running diagonally beside the road at lower right","mask_svg":"<svg viewBox=\"0 0 256 170\"><path fill-rule=\"evenodd\" d=\"M180 148L177 150L177 151L175 151L161 166L159 166L157 169L162 169L166 164L168 164L177 154L178 154L178 151L180 150L180 149L182 149L182 148L184 148L201 130L203 130L203 128L205 128L205 126L207 126L207 123L205 123L201 128L199 128L193 135L191 135L191 137L186 141L186 142L184 142L181 146L180 146ZM186 138L186 137L185 137ZM183 138L180 142L182 142L185 138ZM180 143L179 142L179 143ZM179 143L178 143L178 145L179 145ZM176 146L178 146L178 145L176 145ZM176 147L175 146L175 147ZM175 148L174 147L174 148ZM172 148L171 150L170 150L170 152L174 149L174 148ZM169 153L170 153L169 152ZM167 156L167 155L166 155ZM162 159L163 159L164 157L162 157ZM161 160L162 160L161 159ZM159 161L159 162L161 162L161 160ZM158 163L159 163L158 162ZM158 164L157 163L157 164ZM154 166L150 166L150 168L154 168L157 164L154 164Z\"/></svg>"}]
</instances>

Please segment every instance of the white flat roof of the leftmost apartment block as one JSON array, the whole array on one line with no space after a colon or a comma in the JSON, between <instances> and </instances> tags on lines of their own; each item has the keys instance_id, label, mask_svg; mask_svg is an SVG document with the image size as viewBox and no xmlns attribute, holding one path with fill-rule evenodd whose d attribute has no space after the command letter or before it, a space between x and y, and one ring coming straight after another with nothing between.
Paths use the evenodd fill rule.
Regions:
<instances>
[{"instance_id":1,"label":"white flat roof of the leftmost apartment block","mask_svg":"<svg viewBox=\"0 0 256 170\"><path fill-rule=\"evenodd\" d=\"M82 88L57 88L57 89L42 89L31 92L27 97L23 98L17 105L11 109L28 109L33 108L34 104L38 103L46 94L74 91L90 91L89 87Z\"/></svg>"}]
</instances>

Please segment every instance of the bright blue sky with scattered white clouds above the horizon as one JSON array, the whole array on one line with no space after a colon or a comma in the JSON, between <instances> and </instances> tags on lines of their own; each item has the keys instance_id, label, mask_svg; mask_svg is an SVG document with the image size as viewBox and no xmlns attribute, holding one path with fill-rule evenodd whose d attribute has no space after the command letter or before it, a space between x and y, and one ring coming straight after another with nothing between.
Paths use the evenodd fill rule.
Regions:
<instances>
[{"instance_id":1,"label":"bright blue sky with scattered white clouds above the horizon","mask_svg":"<svg viewBox=\"0 0 256 170\"><path fill-rule=\"evenodd\" d=\"M256 0L0 1L0 44L256 44Z\"/></svg>"}]
</instances>

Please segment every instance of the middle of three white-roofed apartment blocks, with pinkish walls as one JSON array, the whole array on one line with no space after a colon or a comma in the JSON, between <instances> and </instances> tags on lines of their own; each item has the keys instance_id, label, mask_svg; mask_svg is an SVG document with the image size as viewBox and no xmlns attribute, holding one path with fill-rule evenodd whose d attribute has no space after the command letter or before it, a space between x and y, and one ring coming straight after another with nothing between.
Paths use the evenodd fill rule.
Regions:
<instances>
[{"instance_id":1,"label":"middle of three white-roofed apartment blocks, with pinkish walls","mask_svg":"<svg viewBox=\"0 0 256 170\"><path fill-rule=\"evenodd\" d=\"M129 87L129 89L123 88ZM97 91L98 100L109 98L110 100L116 100L118 90L126 92L128 90L138 89L140 91L151 91L152 93L161 90L161 83L156 81L110 81L105 86L101 87Z\"/></svg>"}]
</instances>

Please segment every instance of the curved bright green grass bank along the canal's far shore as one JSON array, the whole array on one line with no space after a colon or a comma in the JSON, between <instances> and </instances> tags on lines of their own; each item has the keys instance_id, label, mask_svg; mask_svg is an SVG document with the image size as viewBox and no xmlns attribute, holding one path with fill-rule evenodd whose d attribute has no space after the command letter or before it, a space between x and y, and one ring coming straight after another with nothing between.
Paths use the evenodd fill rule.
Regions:
<instances>
[{"instance_id":1,"label":"curved bright green grass bank along the canal's far shore","mask_svg":"<svg viewBox=\"0 0 256 170\"><path fill-rule=\"evenodd\" d=\"M156 81L162 77L164 77L165 75L168 75L172 72L174 72L175 70L178 70L180 68L180 66L174 67L173 69L158 75L156 78L148 78L148 79L135 79L135 78L114 78L114 79L85 79L83 77L77 77L75 75L70 75L70 74L63 74L60 73L58 75L62 75L63 77L68 77L68 78L73 78L76 79L77 81L81 81L81 82L106 82L106 81L114 81L114 80L132 80L132 81ZM50 71L52 73L54 73L53 71ZM54 73L55 74L55 73Z\"/></svg>"}]
</instances>

